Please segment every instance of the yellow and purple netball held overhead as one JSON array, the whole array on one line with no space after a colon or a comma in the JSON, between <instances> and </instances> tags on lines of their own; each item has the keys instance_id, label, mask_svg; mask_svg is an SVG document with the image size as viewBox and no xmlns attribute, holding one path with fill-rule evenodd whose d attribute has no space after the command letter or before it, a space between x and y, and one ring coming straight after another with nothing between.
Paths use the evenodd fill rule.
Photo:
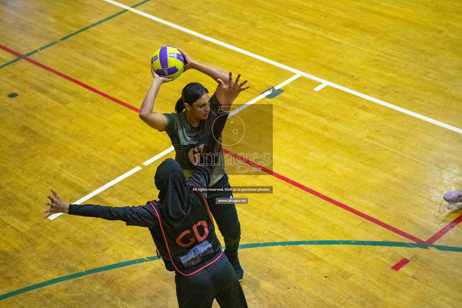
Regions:
<instances>
[{"instance_id":1,"label":"yellow and purple netball held overhead","mask_svg":"<svg viewBox=\"0 0 462 308\"><path fill-rule=\"evenodd\" d=\"M183 55L172 46L157 49L152 55L151 65L154 72L161 77L178 77L184 70Z\"/></svg>"}]
</instances>

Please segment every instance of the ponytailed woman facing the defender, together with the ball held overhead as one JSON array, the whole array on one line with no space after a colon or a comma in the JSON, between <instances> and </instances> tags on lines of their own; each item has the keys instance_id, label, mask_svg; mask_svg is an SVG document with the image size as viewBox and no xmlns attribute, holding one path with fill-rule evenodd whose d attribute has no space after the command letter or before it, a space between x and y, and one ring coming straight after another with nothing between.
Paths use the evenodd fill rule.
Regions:
<instances>
[{"instance_id":1,"label":"ponytailed woman facing the defender, together with the ball held overhead","mask_svg":"<svg viewBox=\"0 0 462 308\"><path fill-rule=\"evenodd\" d=\"M153 112L160 86L174 80L183 69L184 71L195 69L215 80L218 86L213 95L210 96L203 85L193 82L183 88L182 95L175 105L175 113ZM241 75L239 74L233 82L231 72L228 74L212 66L203 65L192 60L180 48L170 46L156 50L152 58L151 72L152 85L141 105L140 118L150 127L168 134L176 151L175 160L181 166L185 178L188 179L195 172L201 154L204 154L201 151L207 139L213 138L211 136L213 122L220 111L230 110L230 106L241 91L249 88L243 88L247 80L239 84ZM213 153L219 154L224 162L223 149L219 142L216 143ZM224 163L214 165L210 186L230 187ZM232 193L208 193L207 204L225 239L225 255L230 260L240 281L243 278L243 269L239 264L237 248L241 239L241 226L237 218L236 205L234 203L216 204L215 202L215 198L230 197Z\"/></svg>"}]
</instances>

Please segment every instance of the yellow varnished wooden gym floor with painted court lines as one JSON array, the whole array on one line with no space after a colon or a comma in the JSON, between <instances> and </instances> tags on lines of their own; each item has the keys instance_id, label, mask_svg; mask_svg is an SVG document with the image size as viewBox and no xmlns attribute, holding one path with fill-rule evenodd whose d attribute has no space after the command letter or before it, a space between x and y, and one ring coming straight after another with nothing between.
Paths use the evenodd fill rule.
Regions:
<instances>
[{"instance_id":1,"label":"yellow varnished wooden gym floor with painted court lines","mask_svg":"<svg viewBox=\"0 0 462 308\"><path fill-rule=\"evenodd\" d=\"M442 199L462 187L460 1L119 3L148 15L1 2L0 307L177 307L174 274L145 259L147 229L42 218L50 188L72 203L130 170L84 203L157 198L153 175L174 152L143 165L171 143L136 110L163 45L242 73L237 103L298 74L258 102L274 108L275 174L230 176L274 187L235 195L249 198L237 205L249 307L462 307L462 210ZM156 109L173 112L192 81L215 87L185 72Z\"/></svg>"}]
</instances>

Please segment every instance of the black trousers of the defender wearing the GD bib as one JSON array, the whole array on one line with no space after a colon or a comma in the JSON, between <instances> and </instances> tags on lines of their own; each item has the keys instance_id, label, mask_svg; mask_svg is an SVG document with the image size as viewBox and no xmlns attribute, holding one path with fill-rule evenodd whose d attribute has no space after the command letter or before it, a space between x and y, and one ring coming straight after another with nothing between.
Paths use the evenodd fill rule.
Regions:
<instances>
[{"instance_id":1,"label":"black trousers of the defender wearing the GD bib","mask_svg":"<svg viewBox=\"0 0 462 308\"><path fill-rule=\"evenodd\" d=\"M247 308L244 292L225 254L190 276L175 274L180 308L211 308L217 299L221 308Z\"/></svg>"}]
</instances>

